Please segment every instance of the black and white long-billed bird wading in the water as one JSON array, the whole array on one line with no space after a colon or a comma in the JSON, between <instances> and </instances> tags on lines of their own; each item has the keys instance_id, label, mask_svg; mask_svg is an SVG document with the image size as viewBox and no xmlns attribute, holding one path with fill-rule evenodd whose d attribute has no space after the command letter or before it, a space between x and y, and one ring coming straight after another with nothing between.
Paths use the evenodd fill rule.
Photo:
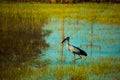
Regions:
<instances>
[{"instance_id":1,"label":"black and white long-billed bird wading in the water","mask_svg":"<svg viewBox=\"0 0 120 80\"><path fill-rule=\"evenodd\" d=\"M66 48L68 51L72 52L74 54L74 60L75 60L75 55L79 55L80 59L82 59L82 56L87 56L87 53L80 49L79 47L73 46L69 43L70 37L66 37L62 40L62 44L66 41Z\"/></svg>"}]
</instances>

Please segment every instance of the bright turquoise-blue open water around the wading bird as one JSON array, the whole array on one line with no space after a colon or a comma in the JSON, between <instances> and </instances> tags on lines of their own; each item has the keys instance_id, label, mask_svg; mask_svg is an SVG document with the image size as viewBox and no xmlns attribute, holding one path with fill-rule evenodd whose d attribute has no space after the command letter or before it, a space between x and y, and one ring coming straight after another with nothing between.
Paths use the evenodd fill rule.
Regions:
<instances>
[{"instance_id":1,"label":"bright turquoise-blue open water around the wading bird","mask_svg":"<svg viewBox=\"0 0 120 80\"><path fill-rule=\"evenodd\" d=\"M91 54L90 33L91 24L88 21L64 19L64 36L70 36L70 44L75 45ZM44 29L51 30L50 36L45 37L50 47L43 51L52 64L59 63L60 57L60 26L61 20L52 17ZM92 56L120 55L120 25L93 23ZM79 56L76 56L79 57ZM70 63L73 54L63 47L63 62Z\"/></svg>"}]
</instances>

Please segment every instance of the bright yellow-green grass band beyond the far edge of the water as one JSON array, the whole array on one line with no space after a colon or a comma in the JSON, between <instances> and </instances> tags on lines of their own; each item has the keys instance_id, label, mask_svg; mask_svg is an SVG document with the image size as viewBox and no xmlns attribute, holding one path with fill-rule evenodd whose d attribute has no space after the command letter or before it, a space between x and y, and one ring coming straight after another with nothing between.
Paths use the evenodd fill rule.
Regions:
<instances>
[{"instance_id":1,"label":"bright yellow-green grass band beyond the far edge of the water","mask_svg":"<svg viewBox=\"0 0 120 80\"><path fill-rule=\"evenodd\" d=\"M120 24L119 4L81 3L81 4L40 4L40 3L0 3L1 13L25 13L38 17L41 13L58 18L67 17L101 23Z\"/></svg>"}]
</instances>

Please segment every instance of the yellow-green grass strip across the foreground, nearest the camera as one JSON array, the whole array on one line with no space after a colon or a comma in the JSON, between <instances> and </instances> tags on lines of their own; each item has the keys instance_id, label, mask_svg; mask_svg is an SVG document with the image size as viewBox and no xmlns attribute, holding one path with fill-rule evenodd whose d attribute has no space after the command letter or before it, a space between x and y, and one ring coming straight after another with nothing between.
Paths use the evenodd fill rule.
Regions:
<instances>
[{"instance_id":1,"label":"yellow-green grass strip across the foreground, nearest the camera","mask_svg":"<svg viewBox=\"0 0 120 80\"><path fill-rule=\"evenodd\" d=\"M118 56L106 56L97 59L87 58L79 65L48 65L37 68L21 65L6 66L0 68L0 77L2 80L119 80L119 61Z\"/></svg>"}]
</instances>

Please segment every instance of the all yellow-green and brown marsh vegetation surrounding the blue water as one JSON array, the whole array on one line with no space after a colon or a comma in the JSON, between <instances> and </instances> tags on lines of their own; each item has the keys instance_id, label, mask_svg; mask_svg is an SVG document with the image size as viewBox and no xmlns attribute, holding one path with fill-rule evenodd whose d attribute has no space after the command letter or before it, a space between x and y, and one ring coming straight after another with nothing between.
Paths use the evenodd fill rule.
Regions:
<instances>
[{"instance_id":1,"label":"all yellow-green and brown marsh vegetation surrounding the blue water","mask_svg":"<svg viewBox=\"0 0 120 80\"><path fill-rule=\"evenodd\" d=\"M76 64L46 65L39 61L49 47L43 26L49 18L69 18L120 25L119 4L0 3L0 77L2 80L120 79L119 56L87 59ZM38 66L36 66L36 63Z\"/></svg>"}]
</instances>

